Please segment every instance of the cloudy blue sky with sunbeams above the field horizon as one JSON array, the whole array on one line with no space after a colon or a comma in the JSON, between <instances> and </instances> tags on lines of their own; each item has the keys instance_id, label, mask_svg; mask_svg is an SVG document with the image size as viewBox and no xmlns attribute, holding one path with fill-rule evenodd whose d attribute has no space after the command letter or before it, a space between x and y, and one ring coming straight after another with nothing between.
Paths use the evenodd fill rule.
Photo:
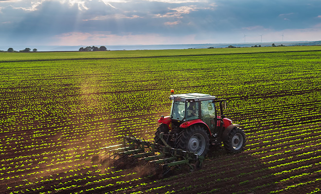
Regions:
<instances>
[{"instance_id":1,"label":"cloudy blue sky with sunbeams above the field horizon","mask_svg":"<svg viewBox=\"0 0 321 194\"><path fill-rule=\"evenodd\" d=\"M321 40L321 0L0 0L0 45Z\"/></svg>"}]
</instances>

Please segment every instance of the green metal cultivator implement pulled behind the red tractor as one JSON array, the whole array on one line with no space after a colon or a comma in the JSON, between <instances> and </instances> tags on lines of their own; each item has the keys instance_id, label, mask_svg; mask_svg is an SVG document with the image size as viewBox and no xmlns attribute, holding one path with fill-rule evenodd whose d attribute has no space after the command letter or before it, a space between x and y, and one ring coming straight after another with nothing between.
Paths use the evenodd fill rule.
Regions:
<instances>
[{"instance_id":1,"label":"green metal cultivator implement pulled behind the red tractor","mask_svg":"<svg viewBox=\"0 0 321 194\"><path fill-rule=\"evenodd\" d=\"M102 148L101 162L110 162L116 168L139 165L141 169L149 169L148 172L160 176L176 168L181 168L183 165L187 166L191 172L202 167L203 156L168 146L163 140L162 134L160 139L165 143L165 146L125 136L123 144Z\"/></svg>"}]
</instances>

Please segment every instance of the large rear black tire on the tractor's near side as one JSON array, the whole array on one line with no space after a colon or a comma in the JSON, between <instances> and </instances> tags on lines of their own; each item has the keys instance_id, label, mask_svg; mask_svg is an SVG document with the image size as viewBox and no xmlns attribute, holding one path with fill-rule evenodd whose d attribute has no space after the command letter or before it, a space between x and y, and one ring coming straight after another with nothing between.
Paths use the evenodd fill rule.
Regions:
<instances>
[{"instance_id":1,"label":"large rear black tire on the tractor's near side","mask_svg":"<svg viewBox=\"0 0 321 194\"><path fill-rule=\"evenodd\" d=\"M176 145L180 149L206 156L210 141L208 134L201 126L192 125L180 134Z\"/></svg>"}]
</instances>

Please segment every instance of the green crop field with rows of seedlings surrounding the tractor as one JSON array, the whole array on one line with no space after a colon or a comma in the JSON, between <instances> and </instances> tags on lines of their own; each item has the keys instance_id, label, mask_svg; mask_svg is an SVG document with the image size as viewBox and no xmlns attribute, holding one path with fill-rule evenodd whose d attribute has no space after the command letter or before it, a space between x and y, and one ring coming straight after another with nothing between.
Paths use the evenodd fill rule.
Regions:
<instances>
[{"instance_id":1,"label":"green crop field with rows of seedlings surrounding the tractor","mask_svg":"<svg viewBox=\"0 0 321 194\"><path fill-rule=\"evenodd\" d=\"M0 53L0 193L321 193L321 47ZM153 141L170 90L228 100L239 154L165 178L101 163Z\"/></svg>"}]
</instances>

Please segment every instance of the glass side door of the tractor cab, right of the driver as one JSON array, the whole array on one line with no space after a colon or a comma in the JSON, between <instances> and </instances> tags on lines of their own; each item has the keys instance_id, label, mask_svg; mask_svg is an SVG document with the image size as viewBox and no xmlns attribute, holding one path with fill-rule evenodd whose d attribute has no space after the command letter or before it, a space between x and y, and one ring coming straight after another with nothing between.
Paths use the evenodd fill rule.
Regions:
<instances>
[{"instance_id":1,"label":"glass side door of the tractor cab, right of the driver","mask_svg":"<svg viewBox=\"0 0 321 194\"><path fill-rule=\"evenodd\" d=\"M213 100L201 101L201 119L213 131L216 127L215 104Z\"/></svg>"}]
</instances>

